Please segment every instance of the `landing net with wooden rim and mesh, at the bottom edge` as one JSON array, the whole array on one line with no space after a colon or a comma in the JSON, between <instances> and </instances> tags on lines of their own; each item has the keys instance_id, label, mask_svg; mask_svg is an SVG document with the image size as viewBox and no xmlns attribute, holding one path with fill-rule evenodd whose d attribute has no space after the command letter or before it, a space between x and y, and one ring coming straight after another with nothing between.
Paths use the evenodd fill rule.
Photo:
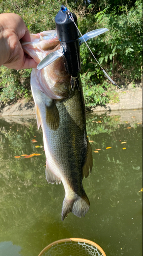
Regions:
<instances>
[{"instance_id":1,"label":"landing net with wooden rim and mesh, at the bottom edge","mask_svg":"<svg viewBox=\"0 0 143 256\"><path fill-rule=\"evenodd\" d=\"M106 256L102 248L87 239L61 239L49 244L39 256Z\"/></svg>"}]
</instances>

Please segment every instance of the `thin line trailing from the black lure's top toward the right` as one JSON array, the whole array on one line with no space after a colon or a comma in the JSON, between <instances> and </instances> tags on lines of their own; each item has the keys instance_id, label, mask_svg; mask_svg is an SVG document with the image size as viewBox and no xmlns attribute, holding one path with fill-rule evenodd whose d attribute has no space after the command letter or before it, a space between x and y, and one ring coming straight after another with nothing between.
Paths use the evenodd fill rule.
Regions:
<instances>
[{"instance_id":1,"label":"thin line trailing from the black lure's top toward the right","mask_svg":"<svg viewBox=\"0 0 143 256\"><path fill-rule=\"evenodd\" d=\"M115 83L109 76L108 74L106 73L106 71L101 67L100 63L98 62L98 60L96 59L96 57L94 56L92 50L90 49L89 45L87 44L87 42L85 41L83 35L81 34L80 30L78 29L77 25L75 24L74 22L74 18L72 16L72 13L68 10L68 15L69 15L69 18L72 20L72 22L74 23L75 27L77 28L78 32L80 33L80 35L82 36L85 44L87 45L87 47L89 48L91 54L93 55L94 59L96 60L96 62L98 63L98 65L100 66L101 70L103 71L104 75L111 81L112 84L114 84L115 86L117 86L118 88L120 88L121 90L123 90L124 92L126 92L123 88L121 88L120 86L118 86L117 83ZM136 100L138 100L136 97L134 97L133 95L131 95L130 93L126 92L127 94L129 94L130 96L132 96L133 98L135 98ZM140 103L142 103L140 100L138 100Z\"/></svg>"}]
</instances>

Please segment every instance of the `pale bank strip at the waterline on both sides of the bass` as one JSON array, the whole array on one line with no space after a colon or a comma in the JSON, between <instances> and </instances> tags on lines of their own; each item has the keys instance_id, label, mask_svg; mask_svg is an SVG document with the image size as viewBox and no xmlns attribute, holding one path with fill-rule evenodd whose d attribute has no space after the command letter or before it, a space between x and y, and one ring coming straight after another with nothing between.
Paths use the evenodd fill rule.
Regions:
<instances>
[{"instance_id":1,"label":"pale bank strip at the waterline on both sides of the bass","mask_svg":"<svg viewBox=\"0 0 143 256\"><path fill-rule=\"evenodd\" d=\"M141 83L135 88L128 86L126 91L120 89L118 103L107 103L106 105L99 105L91 109L91 112L114 112L125 110L142 110L142 87ZM34 100L27 101L25 99L19 99L16 103L7 104L4 108L0 109L0 116L24 116L35 115Z\"/></svg>"}]
</instances>

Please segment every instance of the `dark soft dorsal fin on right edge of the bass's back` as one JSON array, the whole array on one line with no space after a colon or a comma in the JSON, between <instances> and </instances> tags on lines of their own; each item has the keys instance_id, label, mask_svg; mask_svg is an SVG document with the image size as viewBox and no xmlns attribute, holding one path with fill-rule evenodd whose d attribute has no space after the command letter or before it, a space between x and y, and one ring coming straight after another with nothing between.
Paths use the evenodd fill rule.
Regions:
<instances>
[{"instance_id":1,"label":"dark soft dorsal fin on right edge of the bass's back","mask_svg":"<svg viewBox=\"0 0 143 256\"><path fill-rule=\"evenodd\" d=\"M88 141L88 138L87 138ZM82 167L82 178L87 178L89 176L90 171L92 172L92 165L93 165L93 159L92 159L92 147L88 141L87 146L87 157L85 159L84 165Z\"/></svg>"}]
</instances>

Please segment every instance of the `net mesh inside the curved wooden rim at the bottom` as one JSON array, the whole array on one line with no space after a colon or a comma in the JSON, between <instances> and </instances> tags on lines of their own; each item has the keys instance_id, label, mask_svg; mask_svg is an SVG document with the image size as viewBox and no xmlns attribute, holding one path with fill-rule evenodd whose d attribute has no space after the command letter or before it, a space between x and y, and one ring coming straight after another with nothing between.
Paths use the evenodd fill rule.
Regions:
<instances>
[{"instance_id":1,"label":"net mesh inside the curved wooden rim at the bottom","mask_svg":"<svg viewBox=\"0 0 143 256\"><path fill-rule=\"evenodd\" d=\"M39 256L106 256L95 245L87 242L65 241L52 245Z\"/></svg>"}]
</instances>

